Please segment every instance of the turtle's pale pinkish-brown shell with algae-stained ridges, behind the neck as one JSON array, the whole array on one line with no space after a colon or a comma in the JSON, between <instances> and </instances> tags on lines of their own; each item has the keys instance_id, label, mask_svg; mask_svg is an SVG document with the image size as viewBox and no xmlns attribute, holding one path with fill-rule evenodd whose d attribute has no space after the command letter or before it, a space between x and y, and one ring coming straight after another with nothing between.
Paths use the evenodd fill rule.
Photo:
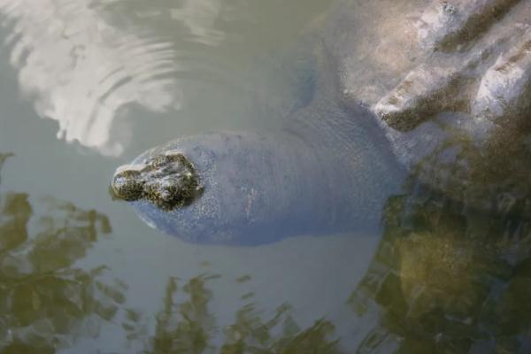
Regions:
<instances>
[{"instance_id":1,"label":"turtle's pale pinkish-brown shell with algae-stained ridges, behind the neck","mask_svg":"<svg viewBox=\"0 0 531 354\"><path fill-rule=\"evenodd\" d=\"M343 2L333 17L342 102L373 113L419 181L481 209L529 195L531 2Z\"/></svg>"}]
</instances>

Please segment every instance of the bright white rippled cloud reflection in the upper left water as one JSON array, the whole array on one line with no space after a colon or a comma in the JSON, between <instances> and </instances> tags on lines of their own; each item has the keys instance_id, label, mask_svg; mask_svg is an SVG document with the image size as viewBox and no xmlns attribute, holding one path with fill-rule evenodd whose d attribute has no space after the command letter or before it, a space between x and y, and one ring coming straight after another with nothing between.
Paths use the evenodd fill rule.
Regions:
<instances>
[{"instance_id":1,"label":"bright white rippled cloud reflection in the upper left water","mask_svg":"<svg viewBox=\"0 0 531 354\"><path fill-rule=\"evenodd\" d=\"M171 76L173 44L113 26L112 2L1 0L0 13L20 89L36 112L58 121L58 138L118 155L124 146L113 139L112 123L119 108L178 109L181 91Z\"/></svg>"}]
</instances>

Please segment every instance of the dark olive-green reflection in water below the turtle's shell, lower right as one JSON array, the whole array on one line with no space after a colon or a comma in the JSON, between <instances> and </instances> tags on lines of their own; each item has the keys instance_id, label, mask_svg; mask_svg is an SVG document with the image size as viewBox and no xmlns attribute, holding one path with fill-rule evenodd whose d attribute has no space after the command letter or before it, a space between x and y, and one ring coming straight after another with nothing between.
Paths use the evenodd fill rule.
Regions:
<instances>
[{"instance_id":1,"label":"dark olive-green reflection in water below the turtle's shell, lower right","mask_svg":"<svg viewBox=\"0 0 531 354\"><path fill-rule=\"evenodd\" d=\"M499 205L479 212L413 183L389 198L381 244L349 300L377 314L359 353L531 350L529 199Z\"/></svg>"}]
</instances>

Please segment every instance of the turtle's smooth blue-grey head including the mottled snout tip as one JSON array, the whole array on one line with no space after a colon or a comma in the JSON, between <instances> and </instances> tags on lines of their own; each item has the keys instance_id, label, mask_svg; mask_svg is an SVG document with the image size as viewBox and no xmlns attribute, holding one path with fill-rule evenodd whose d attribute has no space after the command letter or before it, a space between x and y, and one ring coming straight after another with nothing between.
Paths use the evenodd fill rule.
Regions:
<instances>
[{"instance_id":1,"label":"turtle's smooth blue-grey head including the mottled snout tip","mask_svg":"<svg viewBox=\"0 0 531 354\"><path fill-rule=\"evenodd\" d=\"M350 210L329 192L343 173L319 156L292 135L191 135L119 167L111 189L165 234L194 243L262 244L339 225L343 214L351 222Z\"/></svg>"}]
</instances>

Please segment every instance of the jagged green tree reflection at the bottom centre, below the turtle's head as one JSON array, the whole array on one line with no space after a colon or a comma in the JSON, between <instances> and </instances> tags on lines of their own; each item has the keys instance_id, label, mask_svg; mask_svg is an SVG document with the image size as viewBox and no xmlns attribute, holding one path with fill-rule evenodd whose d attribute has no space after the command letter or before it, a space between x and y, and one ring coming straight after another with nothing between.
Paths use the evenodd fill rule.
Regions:
<instances>
[{"instance_id":1,"label":"jagged green tree reflection at the bottom centre, below the turtle's head","mask_svg":"<svg viewBox=\"0 0 531 354\"><path fill-rule=\"evenodd\" d=\"M217 275L200 275L182 287L187 300L176 303L178 281L166 285L164 307L157 316L155 335L145 353L316 353L334 354L338 340L330 339L335 327L325 319L302 329L290 316L289 305L281 305L271 319L263 319L253 303L242 305L235 313L235 322L222 330L215 324L208 304L212 291L206 283ZM252 297L242 296L243 301ZM225 339L217 347L212 337L223 333Z\"/></svg>"}]
</instances>

